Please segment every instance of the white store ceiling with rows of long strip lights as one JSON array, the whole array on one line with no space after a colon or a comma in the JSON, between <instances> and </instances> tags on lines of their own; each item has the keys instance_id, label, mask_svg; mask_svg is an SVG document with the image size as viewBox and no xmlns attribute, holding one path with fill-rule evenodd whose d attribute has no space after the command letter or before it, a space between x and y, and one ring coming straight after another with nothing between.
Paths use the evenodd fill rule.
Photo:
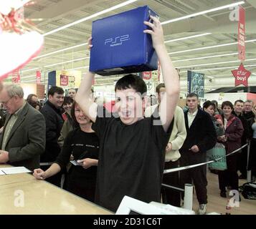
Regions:
<instances>
[{"instance_id":1,"label":"white store ceiling with rows of long strip lights","mask_svg":"<svg viewBox=\"0 0 256 229\"><path fill-rule=\"evenodd\" d=\"M93 19L88 19L87 21L70 26L67 29L54 32L54 29L58 29L73 21L91 16L99 11L103 11L104 9L108 9L123 2L125 2L125 0L37 0L36 4L27 6L25 8L25 16L27 18L43 19L42 21L37 21L35 23L37 24L37 28L45 35L45 42L44 49L41 54L39 54L39 58L37 57L22 69L22 82L35 82L35 72L37 69L42 70L44 76L42 78L45 82L47 82L47 72L54 69L77 68L83 73L87 72L88 68L86 67L89 65L89 58L86 59L86 57L89 57L90 53L87 51L85 43L91 33L92 21L96 19L104 18L105 16L110 16L112 14L118 14L138 6L148 5L159 14L161 22L163 22L238 1L138 0L119 9L109 11L100 16L95 16ZM251 72L256 72L256 1L247 0L242 6L246 9L246 40L250 41L255 39L255 42L246 43L247 61L245 61L244 64L248 65L247 69ZM220 44L237 42L237 21L230 20L230 15L232 15L232 9L222 9L201 16L194 16L190 19L163 24L166 41L196 34L211 33L204 36L166 43L168 51L173 53L170 54L170 56L174 61L175 67L178 67L181 70L181 80L186 79L186 70L188 69L195 71L200 70L199 72L205 73L206 77L214 77L216 81L219 78L232 77L230 72L232 68L221 68L237 68L239 66L240 62L237 57L237 44L212 47ZM78 44L81 44L81 46L62 52L56 52ZM189 49L202 47L210 48L187 51ZM56 53L49 54L52 52ZM44 54L49 55L42 57ZM200 57L202 58L200 59ZM63 62L67 63L61 64ZM97 77L96 83L113 84L113 79L116 79L116 77ZM209 90L217 87L221 87L221 85L207 89Z\"/></svg>"}]
</instances>

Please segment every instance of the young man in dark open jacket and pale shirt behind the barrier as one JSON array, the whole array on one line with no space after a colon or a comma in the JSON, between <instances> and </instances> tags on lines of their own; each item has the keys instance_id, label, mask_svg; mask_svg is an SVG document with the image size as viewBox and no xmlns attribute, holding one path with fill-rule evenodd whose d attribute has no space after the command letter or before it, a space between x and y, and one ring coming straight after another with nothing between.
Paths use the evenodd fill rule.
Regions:
<instances>
[{"instance_id":1,"label":"young man in dark open jacket and pale shirt behind the barrier","mask_svg":"<svg viewBox=\"0 0 256 229\"><path fill-rule=\"evenodd\" d=\"M207 161L207 150L217 142L217 135L211 117L207 112L198 109L197 94L186 97L189 110L184 113L186 124L186 140L181 147L180 165L194 165ZM196 198L199 201L199 214L207 210L207 166L194 167L181 171L181 185L194 181Z\"/></svg>"}]
</instances>

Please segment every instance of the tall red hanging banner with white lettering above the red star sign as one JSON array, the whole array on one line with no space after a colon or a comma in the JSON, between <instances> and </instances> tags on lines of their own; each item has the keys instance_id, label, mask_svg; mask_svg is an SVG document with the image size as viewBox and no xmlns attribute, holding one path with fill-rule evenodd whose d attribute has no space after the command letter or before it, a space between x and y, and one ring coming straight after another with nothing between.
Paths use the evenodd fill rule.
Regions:
<instances>
[{"instance_id":1,"label":"tall red hanging banner with white lettering above the red star sign","mask_svg":"<svg viewBox=\"0 0 256 229\"><path fill-rule=\"evenodd\" d=\"M245 60L245 9L242 6L239 6L238 57L241 61Z\"/></svg>"}]
</instances>

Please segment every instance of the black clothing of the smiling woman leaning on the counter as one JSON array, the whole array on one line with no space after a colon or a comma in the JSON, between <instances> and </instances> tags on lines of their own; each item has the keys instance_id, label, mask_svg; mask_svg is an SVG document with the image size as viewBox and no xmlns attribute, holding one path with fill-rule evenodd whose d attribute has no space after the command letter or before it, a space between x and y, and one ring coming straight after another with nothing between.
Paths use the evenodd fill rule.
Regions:
<instances>
[{"instance_id":1,"label":"black clothing of the smiling woman leaning on the counter","mask_svg":"<svg viewBox=\"0 0 256 229\"><path fill-rule=\"evenodd\" d=\"M99 138L95 132L83 132L80 127L72 130L67 135L62 152L58 155L55 163L65 170L70 155L74 156L74 160L84 158L98 159L99 154ZM97 177L97 166L92 166L86 170L79 165L72 165L67 175L66 189L83 198L94 200L95 184ZM87 197L87 189L91 189L93 198Z\"/></svg>"}]
</instances>

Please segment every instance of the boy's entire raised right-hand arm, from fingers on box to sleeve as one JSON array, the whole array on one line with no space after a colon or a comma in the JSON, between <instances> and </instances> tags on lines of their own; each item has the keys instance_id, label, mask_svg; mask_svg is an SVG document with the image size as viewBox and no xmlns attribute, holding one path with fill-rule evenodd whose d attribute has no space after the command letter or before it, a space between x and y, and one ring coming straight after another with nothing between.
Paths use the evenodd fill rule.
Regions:
<instances>
[{"instance_id":1,"label":"boy's entire raised right-hand arm, from fingers on box to sleeve","mask_svg":"<svg viewBox=\"0 0 256 229\"><path fill-rule=\"evenodd\" d=\"M169 125L171 124L171 120L174 117L174 111L179 99L179 75L172 64L164 45L161 23L154 16L151 16L151 19L153 19L153 24L148 21L145 21L144 23L151 27L152 30L147 29L144 32L151 34L152 36L153 47L156 50L156 54L163 72L163 82L166 87L166 93L161 99L159 115L163 125L163 130L167 131Z\"/></svg>"}]
</instances>

